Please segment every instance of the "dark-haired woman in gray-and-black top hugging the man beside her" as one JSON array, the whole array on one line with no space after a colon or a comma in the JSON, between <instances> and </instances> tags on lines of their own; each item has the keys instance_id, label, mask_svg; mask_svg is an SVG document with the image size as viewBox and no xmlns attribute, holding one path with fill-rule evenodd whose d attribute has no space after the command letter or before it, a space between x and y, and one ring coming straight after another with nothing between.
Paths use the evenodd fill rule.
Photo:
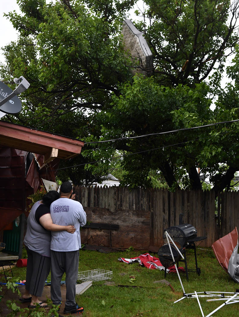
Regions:
<instances>
[{"instance_id":1,"label":"dark-haired woman in gray-and-black top hugging the man beside her","mask_svg":"<svg viewBox=\"0 0 239 317\"><path fill-rule=\"evenodd\" d=\"M36 304L47 307L47 303L41 302L38 297L42 296L51 268L51 231L75 232L74 226L60 226L52 222L50 205L59 197L57 191L49 191L41 201L32 206L27 219L27 232L24 238L28 255L26 288L20 301L30 302L30 308L35 308Z\"/></svg>"}]
</instances>

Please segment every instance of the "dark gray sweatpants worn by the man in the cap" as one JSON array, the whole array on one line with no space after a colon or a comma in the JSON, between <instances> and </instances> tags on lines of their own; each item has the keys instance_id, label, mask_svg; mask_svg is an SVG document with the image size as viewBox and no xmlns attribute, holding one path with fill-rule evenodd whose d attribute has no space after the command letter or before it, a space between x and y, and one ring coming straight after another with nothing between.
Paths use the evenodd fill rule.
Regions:
<instances>
[{"instance_id":1,"label":"dark gray sweatpants worn by the man in the cap","mask_svg":"<svg viewBox=\"0 0 239 317\"><path fill-rule=\"evenodd\" d=\"M51 250L51 300L54 305L61 302L60 282L66 272L66 308L75 308L76 281L79 268L79 250L59 252Z\"/></svg>"}]
</instances>

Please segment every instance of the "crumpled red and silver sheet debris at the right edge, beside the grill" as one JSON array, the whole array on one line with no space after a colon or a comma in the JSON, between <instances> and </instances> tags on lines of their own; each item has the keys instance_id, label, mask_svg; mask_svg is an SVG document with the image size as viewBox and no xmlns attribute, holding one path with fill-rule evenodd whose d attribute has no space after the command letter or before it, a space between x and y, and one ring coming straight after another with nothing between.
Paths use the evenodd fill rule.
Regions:
<instances>
[{"instance_id":1,"label":"crumpled red and silver sheet debris at the right edge, beside the grill","mask_svg":"<svg viewBox=\"0 0 239 317\"><path fill-rule=\"evenodd\" d=\"M238 233L235 227L229 234L212 244L212 249L221 267L239 283Z\"/></svg>"}]
</instances>

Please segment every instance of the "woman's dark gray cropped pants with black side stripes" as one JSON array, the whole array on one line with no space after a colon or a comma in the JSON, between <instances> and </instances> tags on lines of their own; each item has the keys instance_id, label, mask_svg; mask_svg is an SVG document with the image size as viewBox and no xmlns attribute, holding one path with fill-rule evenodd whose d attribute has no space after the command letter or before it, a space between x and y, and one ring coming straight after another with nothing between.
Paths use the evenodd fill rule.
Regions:
<instances>
[{"instance_id":1,"label":"woman's dark gray cropped pants with black side stripes","mask_svg":"<svg viewBox=\"0 0 239 317\"><path fill-rule=\"evenodd\" d=\"M29 250L27 247L26 290L31 295L41 297L45 281L51 268L51 258Z\"/></svg>"}]
</instances>

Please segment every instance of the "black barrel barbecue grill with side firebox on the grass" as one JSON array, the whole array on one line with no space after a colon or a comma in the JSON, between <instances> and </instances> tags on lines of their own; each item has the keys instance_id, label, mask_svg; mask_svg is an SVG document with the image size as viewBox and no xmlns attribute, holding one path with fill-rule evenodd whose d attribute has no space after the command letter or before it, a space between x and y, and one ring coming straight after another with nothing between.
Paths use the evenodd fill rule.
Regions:
<instances>
[{"instance_id":1,"label":"black barrel barbecue grill with side firebox on the grass","mask_svg":"<svg viewBox=\"0 0 239 317\"><path fill-rule=\"evenodd\" d=\"M168 243L165 243L163 246L161 246L161 248L158 251L158 256L159 256L160 262L165 267L165 270L164 270L165 277L167 274L167 268L175 263L177 263L177 267L178 267L179 262L185 262L185 270L186 270L187 280L188 280L188 272L197 272L198 275L200 275L201 270L200 270L200 268L198 268L195 243L198 241L202 241L202 240L206 239L206 237L198 237L197 236L198 232L197 232L196 228L193 227L189 223L180 224L178 226L172 226L172 227L165 229L164 231L167 231L169 236L172 238L173 242L178 247L179 251L184 256L184 260L182 260L177 248L173 244L170 244L171 249L172 249L172 253L173 253L173 257L174 257L174 261L175 261L175 262L173 262L173 257L171 255ZM165 232L163 234L163 238L166 240ZM194 249L196 270L192 270L192 269L189 270L187 268L186 249Z\"/></svg>"}]
</instances>

